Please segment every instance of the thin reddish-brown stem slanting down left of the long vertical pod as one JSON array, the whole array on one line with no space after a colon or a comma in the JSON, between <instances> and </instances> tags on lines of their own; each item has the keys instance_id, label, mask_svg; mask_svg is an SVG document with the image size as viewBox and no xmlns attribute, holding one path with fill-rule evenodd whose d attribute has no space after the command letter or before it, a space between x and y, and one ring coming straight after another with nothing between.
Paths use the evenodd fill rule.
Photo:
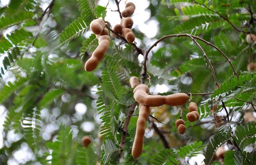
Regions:
<instances>
[{"instance_id":1,"label":"thin reddish-brown stem slanting down left of the long vertical pod","mask_svg":"<svg viewBox=\"0 0 256 165\"><path fill-rule=\"evenodd\" d=\"M135 110L136 106L137 106L137 101L134 101L134 103L132 103L132 108L131 108L131 110L128 114L128 116L130 115L130 117L128 117L124 122L124 127L122 129L123 131L122 131L122 136L121 136L121 141L120 141L121 150L120 150L120 153L119 153L119 159L122 158L122 153L124 151L125 138L126 138L126 134L127 134L127 128L128 128L129 123L130 123L131 115L134 113L134 110Z\"/></svg>"}]
</instances>

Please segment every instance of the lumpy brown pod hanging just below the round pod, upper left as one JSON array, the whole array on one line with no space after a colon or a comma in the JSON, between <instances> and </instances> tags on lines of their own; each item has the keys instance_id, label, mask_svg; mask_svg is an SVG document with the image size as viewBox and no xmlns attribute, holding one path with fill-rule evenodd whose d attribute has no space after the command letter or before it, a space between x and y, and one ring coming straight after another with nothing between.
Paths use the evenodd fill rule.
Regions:
<instances>
[{"instance_id":1,"label":"lumpy brown pod hanging just below the round pod, upper left","mask_svg":"<svg viewBox=\"0 0 256 165\"><path fill-rule=\"evenodd\" d=\"M95 70L98 66L98 63L103 59L105 56L108 47L109 47L110 37L108 35L100 36L98 39L98 47L93 52L91 58L89 58L85 62L85 70L87 72L91 72Z\"/></svg>"}]
</instances>

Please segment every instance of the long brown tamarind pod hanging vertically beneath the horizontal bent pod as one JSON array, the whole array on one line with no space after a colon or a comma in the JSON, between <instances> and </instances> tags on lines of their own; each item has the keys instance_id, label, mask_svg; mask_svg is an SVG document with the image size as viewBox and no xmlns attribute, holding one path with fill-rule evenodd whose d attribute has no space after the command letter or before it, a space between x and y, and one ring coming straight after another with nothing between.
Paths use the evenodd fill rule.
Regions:
<instances>
[{"instance_id":1,"label":"long brown tamarind pod hanging vertically beneath the horizontal bent pod","mask_svg":"<svg viewBox=\"0 0 256 165\"><path fill-rule=\"evenodd\" d=\"M145 134L146 121L150 115L151 108L146 105L139 105L139 118L137 120L134 144L132 145L132 156L138 158L143 151L143 141Z\"/></svg>"}]
</instances>

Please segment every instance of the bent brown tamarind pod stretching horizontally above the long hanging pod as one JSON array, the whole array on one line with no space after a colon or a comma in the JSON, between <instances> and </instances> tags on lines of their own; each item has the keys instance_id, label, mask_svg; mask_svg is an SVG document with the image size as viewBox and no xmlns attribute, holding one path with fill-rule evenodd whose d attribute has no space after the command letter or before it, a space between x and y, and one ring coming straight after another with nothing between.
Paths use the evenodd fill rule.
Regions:
<instances>
[{"instance_id":1,"label":"bent brown tamarind pod stretching horizontally above the long hanging pod","mask_svg":"<svg viewBox=\"0 0 256 165\"><path fill-rule=\"evenodd\" d=\"M145 84L139 84L134 88L134 99L141 104L147 106L161 106L167 104L169 106L184 105L187 103L189 97L187 94L178 93L167 96L148 95L149 88Z\"/></svg>"}]
</instances>

